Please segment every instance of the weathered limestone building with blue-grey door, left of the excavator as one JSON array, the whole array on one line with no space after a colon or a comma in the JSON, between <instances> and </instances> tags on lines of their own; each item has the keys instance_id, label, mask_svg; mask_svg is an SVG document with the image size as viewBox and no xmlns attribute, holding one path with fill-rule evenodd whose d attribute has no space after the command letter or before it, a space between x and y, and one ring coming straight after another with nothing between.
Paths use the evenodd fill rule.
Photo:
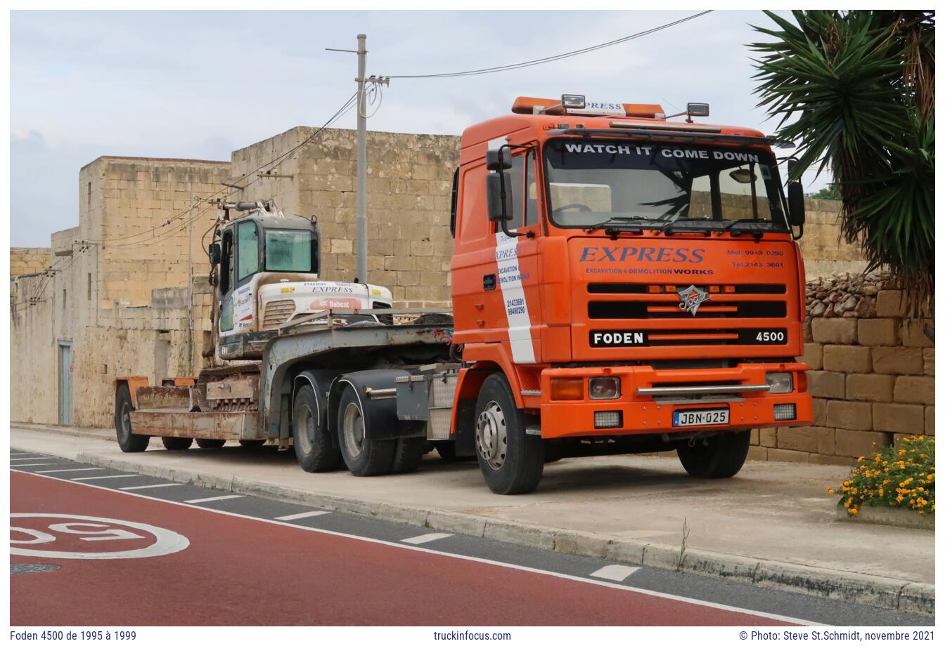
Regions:
<instances>
[{"instance_id":1,"label":"weathered limestone building with blue-grey door, left of the excavator","mask_svg":"<svg viewBox=\"0 0 945 646\"><path fill-rule=\"evenodd\" d=\"M99 157L79 171L78 225L52 235L45 273L11 282L13 421L107 426L115 375L198 370L200 237L215 208L191 207L229 178L230 162L190 159Z\"/></svg>"}]
</instances>

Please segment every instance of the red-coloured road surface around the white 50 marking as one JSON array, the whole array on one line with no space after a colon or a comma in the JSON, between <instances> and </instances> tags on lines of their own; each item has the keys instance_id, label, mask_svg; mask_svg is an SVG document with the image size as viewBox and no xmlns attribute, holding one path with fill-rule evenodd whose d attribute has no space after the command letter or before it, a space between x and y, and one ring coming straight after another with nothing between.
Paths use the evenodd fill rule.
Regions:
<instances>
[{"instance_id":1,"label":"red-coloured road surface around the white 50 marking","mask_svg":"<svg viewBox=\"0 0 945 646\"><path fill-rule=\"evenodd\" d=\"M10 575L14 626L786 625L25 473L10 473L10 516L28 551L11 564L60 566Z\"/></svg>"}]
</instances>

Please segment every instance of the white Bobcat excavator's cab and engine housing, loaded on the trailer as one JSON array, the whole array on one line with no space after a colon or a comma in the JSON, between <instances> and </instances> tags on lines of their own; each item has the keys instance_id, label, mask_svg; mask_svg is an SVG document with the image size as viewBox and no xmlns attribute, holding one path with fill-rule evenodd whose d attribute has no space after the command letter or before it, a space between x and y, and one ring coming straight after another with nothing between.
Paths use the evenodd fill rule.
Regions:
<instances>
[{"instance_id":1,"label":"white Bobcat excavator's cab and engine housing, loaded on the trailer","mask_svg":"<svg viewBox=\"0 0 945 646\"><path fill-rule=\"evenodd\" d=\"M224 206L218 223L210 255L220 358L259 358L280 325L316 312L391 306L387 288L319 278L314 220L250 202ZM387 323L377 315L348 316L358 317Z\"/></svg>"}]
</instances>

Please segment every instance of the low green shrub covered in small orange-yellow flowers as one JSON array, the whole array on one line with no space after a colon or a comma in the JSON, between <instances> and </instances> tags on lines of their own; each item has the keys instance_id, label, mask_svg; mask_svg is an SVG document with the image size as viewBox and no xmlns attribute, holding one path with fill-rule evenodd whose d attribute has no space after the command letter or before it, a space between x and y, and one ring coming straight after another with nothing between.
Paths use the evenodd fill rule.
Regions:
<instances>
[{"instance_id":1,"label":"low green shrub covered in small orange-yellow flowers","mask_svg":"<svg viewBox=\"0 0 945 646\"><path fill-rule=\"evenodd\" d=\"M884 446L857 461L839 491L827 489L840 496L851 516L863 505L906 507L920 516L936 512L935 438L905 438L899 446Z\"/></svg>"}]
</instances>

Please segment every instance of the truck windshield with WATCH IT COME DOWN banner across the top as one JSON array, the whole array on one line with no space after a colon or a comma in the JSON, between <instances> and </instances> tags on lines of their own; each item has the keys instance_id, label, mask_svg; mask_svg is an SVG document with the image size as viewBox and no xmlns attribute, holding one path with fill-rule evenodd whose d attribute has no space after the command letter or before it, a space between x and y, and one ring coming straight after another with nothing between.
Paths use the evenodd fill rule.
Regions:
<instances>
[{"instance_id":1,"label":"truck windshield with WATCH IT COME DOWN banner across the top","mask_svg":"<svg viewBox=\"0 0 945 646\"><path fill-rule=\"evenodd\" d=\"M786 229L774 157L758 148L552 140L544 151L558 226L756 220Z\"/></svg>"}]
</instances>

